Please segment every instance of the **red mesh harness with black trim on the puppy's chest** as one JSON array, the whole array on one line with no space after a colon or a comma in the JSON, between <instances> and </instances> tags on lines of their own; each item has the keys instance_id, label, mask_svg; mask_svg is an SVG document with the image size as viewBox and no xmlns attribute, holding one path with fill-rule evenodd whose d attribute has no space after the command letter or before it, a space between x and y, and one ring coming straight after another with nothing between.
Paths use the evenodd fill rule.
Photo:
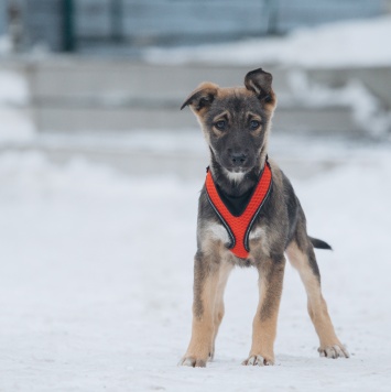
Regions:
<instances>
[{"instance_id":1,"label":"red mesh harness with black trim on the puppy's chest","mask_svg":"<svg viewBox=\"0 0 391 392\"><path fill-rule=\"evenodd\" d=\"M247 259L249 255L249 235L251 227L269 196L271 184L272 172L267 162L249 204L245 211L236 217L221 200L210 171L208 171L206 175L205 186L209 203L228 231L231 240L228 248L240 259Z\"/></svg>"}]
</instances>

